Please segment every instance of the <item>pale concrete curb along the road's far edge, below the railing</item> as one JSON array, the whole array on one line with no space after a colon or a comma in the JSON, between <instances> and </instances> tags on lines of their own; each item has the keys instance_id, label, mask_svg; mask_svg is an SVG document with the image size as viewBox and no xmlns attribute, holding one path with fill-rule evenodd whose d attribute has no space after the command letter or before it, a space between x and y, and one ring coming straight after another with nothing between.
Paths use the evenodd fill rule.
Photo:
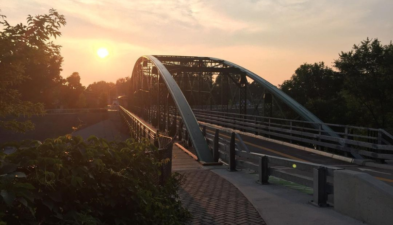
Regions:
<instances>
[{"instance_id":1,"label":"pale concrete curb along the road's far edge, below the railing","mask_svg":"<svg viewBox=\"0 0 393 225\"><path fill-rule=\"evenodd\" d=\"M252 133L248 133L248 132L244 132L244 131L240 131L240 130L236 130L236 129L230 129L230 128L224 128L221 126L217 126L217 125L213 125L213 124L209 124L209 123L205 123L205 122L199 122L200 124L203 125L208 125L214 128L218 128L218 129L225 129L231 132L237 132L239 134L243 134L249 137L253 137L253 138L257 138L260 140L264 140L264 141L268 141L268 142L273 142L273 143L277 143L280 145L285 145L288 147L293 147L299 150L303 150L303 151L307 151L307 152L311 152L314 154L318 154L321 156L326 156L332 159L336 159L336 160L340 160L340 161L345 161L345 162L349 162L349 163L354 163L357 165L361 165L361 166L370 166L370 167L375 167L375 168L380 168L380 169L388 169L388 170L393 170L393 165L386 165L386 164L379 164L379 163L375 163L374 160L358 160L358 159L352 159L349 157L345 157L345 156L340 156L340 155L336 155L333 153L328 153L328 152L323 152L323 151L319 151L316 149L312 149L309 147L304 147L304 146L300 146L300 145L295 145L295 144L291 144L288 142L284 142L284 141L278 141L278 140L274 140L274 139L270 139L270 138L266 138L266 137L262 137L261 135L256 135L256 134L252 134Z\"/></svg>"}]
</instances>

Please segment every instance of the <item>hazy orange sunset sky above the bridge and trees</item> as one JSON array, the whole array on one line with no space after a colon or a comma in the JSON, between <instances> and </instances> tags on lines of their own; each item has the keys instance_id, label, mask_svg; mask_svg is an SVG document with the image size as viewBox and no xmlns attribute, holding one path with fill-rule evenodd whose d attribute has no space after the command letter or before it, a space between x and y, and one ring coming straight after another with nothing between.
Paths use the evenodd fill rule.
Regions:
<instances>
[{"instance_id":1,"label":"hazy orange sunset sky above the bridge and trees","mask_svg":"<svg viewBox=\"0 0 393 225\"><path fill-rule=\"evenodd\" d=\"M83 85L131 76L151 54L221 58L278 85L367 37L393 40L393 0L0 0L11 24L50 8L67 20L62 76L77 71Z\"/></svg>"}]
</instances>

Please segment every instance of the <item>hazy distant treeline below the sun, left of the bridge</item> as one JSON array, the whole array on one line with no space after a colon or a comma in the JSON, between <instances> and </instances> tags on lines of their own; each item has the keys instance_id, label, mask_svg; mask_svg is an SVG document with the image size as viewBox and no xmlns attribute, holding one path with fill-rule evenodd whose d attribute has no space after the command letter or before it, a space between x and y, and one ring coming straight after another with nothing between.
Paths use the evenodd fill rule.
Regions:
<instances>
[{"instance_id":1,"label":"hazy distant treeline below the sun, left of the bridge","mask_svg":"<svg viewBox=\"0 0 393 225\"><path fill-rule=\"evenodd\" d=\"M118 79L116 83L101 80L85 87L78 72L63 79L60 66L49 66L56 67L59 72L31 72L31 79L16 86L23 100L44 103L46 109L104 108L117 96L128 94L128 77Z\"/></svg>"}]
</instances>

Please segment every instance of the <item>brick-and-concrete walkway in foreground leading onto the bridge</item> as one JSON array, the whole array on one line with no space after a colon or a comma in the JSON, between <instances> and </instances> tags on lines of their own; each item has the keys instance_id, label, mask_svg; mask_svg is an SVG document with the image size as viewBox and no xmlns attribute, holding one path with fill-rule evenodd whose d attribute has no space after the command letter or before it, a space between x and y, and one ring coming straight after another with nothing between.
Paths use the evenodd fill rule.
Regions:
<instances>
[{"instance_id":1,"label":"brick-and-concrete walkway in foreground leading onto the bridge","mask_svg":"<svg viewBox=\"0 0 393 225\"><path fill-rule=\"evenodd\" d=\"M332 207L317 208L309 204L308 202L312 199L310 194L277 184L260 185L256 183L258 180L256 174L250 173L248 170L229 172L225 165L201 166L176 145L174 145L172 168L173 172L180 172L187 177L179 194L184 207L195 216L194 220L190 222L193 225L365 224L336 212ZM231 191L228 191L228 187L231 187ZM247 201L243 199L239 200L239 203L233 204L234 199L239 196L244 196ZM248 203L250 205L247 205ZM234 208L231 209L231 207ZM245 208L247 210L244 210ZM225 210L219 211L219 209ZM253 213L253 210L258 211L260 217ZM243 216L240 219L248 216L248 221L239 220L237 218L239 212L243 213L240 214ZM225 218L229 218L229 220L220 220Z\"/></svg>"}]
</instances>

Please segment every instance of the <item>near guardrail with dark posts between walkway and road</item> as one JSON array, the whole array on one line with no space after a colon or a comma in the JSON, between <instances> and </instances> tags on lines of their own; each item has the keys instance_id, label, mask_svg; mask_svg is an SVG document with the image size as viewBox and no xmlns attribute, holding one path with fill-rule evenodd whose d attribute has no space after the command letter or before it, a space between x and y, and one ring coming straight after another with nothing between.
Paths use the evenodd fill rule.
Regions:
<instances>
[{"instance_id":1,"label":"near guardrail with dark posts between walkway and road","mask_svg":"<svg viewBox=\"0 0 393 225\"><path fill-rule=\"evenodd\" d=\"M206 127L215 130L214 134L204 132ZM318 207L328 206L328 194L334 193L334 171L343 168L250 152L238 133L206 125L201 125L201 128L208 145L213 150L214 160L221 159L227 163L229 171L236 171L236 168L254 170L259 173L260 184L268 184L269 176L274 176L311 187L314 190L312 203ZM230 140L221 138L220 133L229 134ZM290 173L289 169L302 171L311 176Z\"/></svg>"}]
</instances>

